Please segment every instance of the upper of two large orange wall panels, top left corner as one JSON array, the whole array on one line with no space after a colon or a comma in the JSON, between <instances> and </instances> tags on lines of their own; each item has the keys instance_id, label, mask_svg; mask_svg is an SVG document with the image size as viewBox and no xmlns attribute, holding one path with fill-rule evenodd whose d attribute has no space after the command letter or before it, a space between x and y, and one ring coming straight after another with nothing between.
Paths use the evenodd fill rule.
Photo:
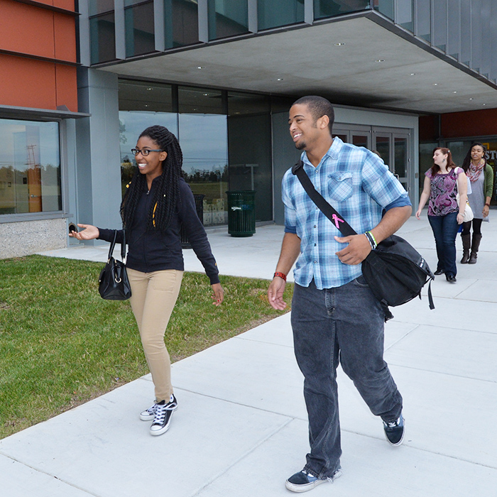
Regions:
<instances>
[{"instance_id":1,"label":"upper of two large orange wall panels, top left corner","mask_svg":"<svg viewBox=\"0 0 497 497\"><path fill-rule=\"evenodd\" d=\"M53 12L0 0L0 13L1 49L54 57Z\"/></svg>"}]
</instances>

